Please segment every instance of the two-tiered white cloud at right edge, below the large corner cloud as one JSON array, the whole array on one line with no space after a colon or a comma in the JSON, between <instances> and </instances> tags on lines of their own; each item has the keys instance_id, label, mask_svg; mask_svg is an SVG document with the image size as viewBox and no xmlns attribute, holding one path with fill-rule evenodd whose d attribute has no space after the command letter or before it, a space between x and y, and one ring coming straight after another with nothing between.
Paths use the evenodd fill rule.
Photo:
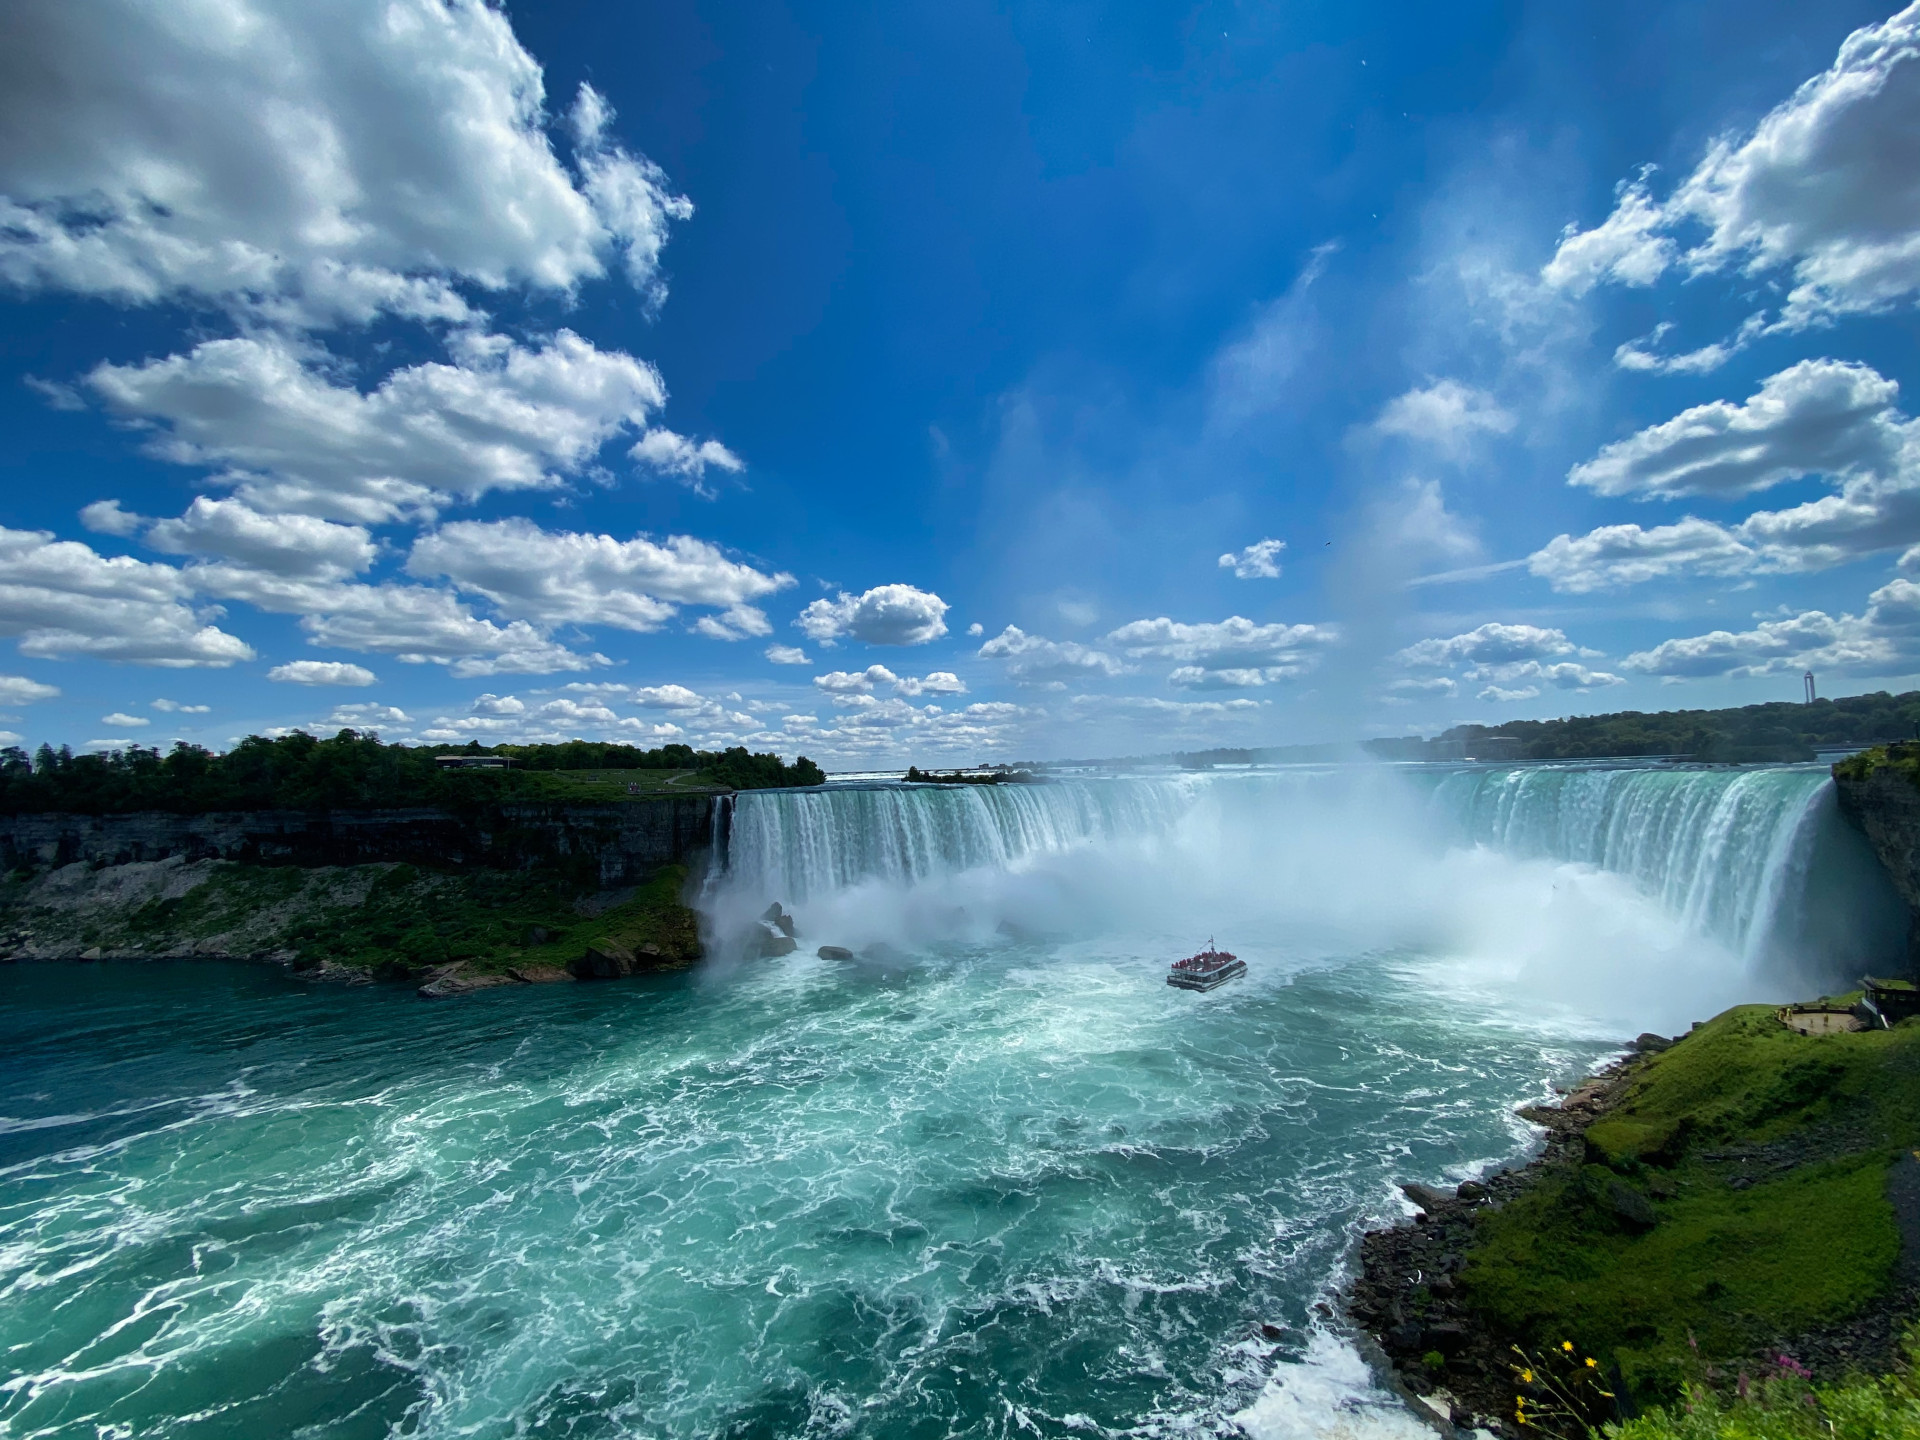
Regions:
<instances>
[{"instance_id":1,"label":"two-tiered white cloud at right edge, below the large corner cloud","mask_svg":"<svg viewBox=\"0 0 1920 1440\"><path fill-rule=\"evenodd\" d=\"M1592 591L1674 574L1799 572L1920 543L1920 422L1864 365L1803 361L1743 405L1697 405L1607 445L1569 474L1609 495L1743 495L1820 476L1834 495L1740 524L1684 516L1557 536L1532 557L1555 589Z\"/></svg>"}]
</instances>

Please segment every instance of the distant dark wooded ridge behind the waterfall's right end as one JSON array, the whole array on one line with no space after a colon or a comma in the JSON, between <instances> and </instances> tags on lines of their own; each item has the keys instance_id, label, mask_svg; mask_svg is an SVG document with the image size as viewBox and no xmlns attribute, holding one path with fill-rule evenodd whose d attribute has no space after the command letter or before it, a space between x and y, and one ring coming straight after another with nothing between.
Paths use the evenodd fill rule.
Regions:
<instances>
[{"instance_id":1,"label":"distant dark wooded ridge behind the waterfall's right end","mask_svg":"<svg viewBox=\"0 0 1920 1440\"><path fill-rule=\"evenodd\" d=\"M1613 755L1686 755L1693 760L1753 764L1812 760L1814 747L1912 739L1920 733L1920 691L1849 695L1812 705L1743 705L1730 710L1620 710L1565 720L1509 720L1501 726L1455 726L1436 741L1367 741L1388 760L1427 760L1446 741L1511 735L1524 760L1578 760Z\"/></svg>"}]
</instances>

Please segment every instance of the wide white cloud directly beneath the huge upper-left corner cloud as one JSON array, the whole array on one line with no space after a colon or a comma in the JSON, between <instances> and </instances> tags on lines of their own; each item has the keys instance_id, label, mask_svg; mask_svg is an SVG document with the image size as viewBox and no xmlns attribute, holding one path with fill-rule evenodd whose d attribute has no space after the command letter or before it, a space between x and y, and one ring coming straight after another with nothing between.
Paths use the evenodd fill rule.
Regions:
<instances>
[{"instance_id":1,"label":"wide white cloud directly beneath the huge upper-left corner cloud","mask_svg":"<svg viewBox=\"0 0 1920 1440\"><path fill-rule=\"evenodd\" d=\"M557 486L666 401L651 365L572 330L538 346L461 334L453 349L455 363L409 365L369 392L271 334L100 365L88 384L156 428L159 459L219 470L259 511L357 524Z\"/></svg>"}]
</instances>

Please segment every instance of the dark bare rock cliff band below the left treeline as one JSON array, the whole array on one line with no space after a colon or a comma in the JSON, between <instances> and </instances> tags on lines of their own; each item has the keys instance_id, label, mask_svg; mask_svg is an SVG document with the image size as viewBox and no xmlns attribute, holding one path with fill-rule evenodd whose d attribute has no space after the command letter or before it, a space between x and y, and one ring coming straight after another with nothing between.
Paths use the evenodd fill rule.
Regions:
<instances>
[{"instance_id":1,"label":"dark bare rock cliff band below the left treeline","mask_svg":"<svg viewBox=\"0 0 1920 1440\"><path fill-rule=\"evenodd\" d=\"M597 868L603 887L636 885L666 864L703 858L714 797L662 795L614 804L507 804L447 810L252 810L238 814L0 816L0 866L44 870L77 860L528 870L555 860Z\"/></svg>"}]
</instances>

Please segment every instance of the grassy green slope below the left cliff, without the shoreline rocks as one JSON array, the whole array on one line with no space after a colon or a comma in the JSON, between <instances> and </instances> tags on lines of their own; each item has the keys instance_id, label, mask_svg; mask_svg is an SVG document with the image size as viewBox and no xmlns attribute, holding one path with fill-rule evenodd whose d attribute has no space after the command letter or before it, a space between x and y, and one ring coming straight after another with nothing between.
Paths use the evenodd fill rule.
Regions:
<instances>
[{"instance_id":1,"label":"grassy green slope below the left cliff, without the shoreline rocks","mask_svg":"<svg viewBox=\"0 0 1920 1440\"><path fill-rule=\"evenodd\" d=\"M668 962L699 956L695 916L680 902L684 866L662 868L601 914L582 914L582 889L540 872L227 862L207 864L205 872L205 881L186 895L67 912L36 910L15 883L0 893L0 920L71 937L73 954L92 947L108 954L182 954L211 941L232 954L294 950L300 966L332 962L365 970L447 960L467 960L478 972L566 964L607 939L630 948L657 945Z\"/></svg>"}]
</instances>

